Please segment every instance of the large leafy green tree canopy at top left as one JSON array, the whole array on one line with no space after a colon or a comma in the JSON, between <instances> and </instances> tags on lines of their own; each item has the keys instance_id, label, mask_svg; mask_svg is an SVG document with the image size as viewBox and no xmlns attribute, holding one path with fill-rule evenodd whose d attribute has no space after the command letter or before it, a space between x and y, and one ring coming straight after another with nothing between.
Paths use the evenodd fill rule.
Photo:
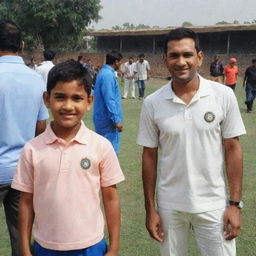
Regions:
<instances>
[{"instance_id":1,"label":"large leafy green tree canopy at top left","mask_svg":"<svg viewBox=\"0 0 256 256\"><path fill-rule=\"evenodd\" d=\"M55 49L75 47L100 9L100 0L0 0L1 17L17 22L35 44Z\"/></svg>"}]
</instances>

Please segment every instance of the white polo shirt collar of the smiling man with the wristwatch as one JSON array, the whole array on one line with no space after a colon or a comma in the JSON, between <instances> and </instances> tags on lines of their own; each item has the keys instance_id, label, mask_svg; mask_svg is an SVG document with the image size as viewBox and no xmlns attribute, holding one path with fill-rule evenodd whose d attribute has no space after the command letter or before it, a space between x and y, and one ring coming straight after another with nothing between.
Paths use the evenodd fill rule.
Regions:
<instances>
[{"instance_id":1,"label":"white polo shirt collar of the smiling man with the wristwatch","mask_svg":"<svg viewBox=\"0 0 256 256\"><path fill-rule=\"evenodd\" d=\"M207 80L204 79L203 77L201 77L200 75L198 75L198 77L199 77L199 88L193 98L193 101L198 98L208 96L212 92L211 87L207 84ZM172 80L167 84L167 86L164 90L164 98L172 99L173 102L183 103L183 101L178 96L176 96L176 94L174 93L174 91L172 89Z\"/></svg>"}]
</instances>

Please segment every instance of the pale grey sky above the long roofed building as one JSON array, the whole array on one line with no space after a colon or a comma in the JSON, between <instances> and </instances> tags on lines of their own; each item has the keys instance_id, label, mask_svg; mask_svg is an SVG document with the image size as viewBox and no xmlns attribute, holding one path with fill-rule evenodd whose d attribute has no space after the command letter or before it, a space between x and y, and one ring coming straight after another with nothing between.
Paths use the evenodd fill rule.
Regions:
<instances>
[{"instance_id":1,"label":"pale grey sky above the long roofed building","mask_svg":"<svg viewBox=\"0 0 256 256\"><path fill-rule=\"evenodd\" d=\"M101 0L101 5L102 19L90 26L96 30L126 22L176 27L184 21L207 26L223 20L244 23L256 19L256 0Z\"/></svg>"}]
</instances>

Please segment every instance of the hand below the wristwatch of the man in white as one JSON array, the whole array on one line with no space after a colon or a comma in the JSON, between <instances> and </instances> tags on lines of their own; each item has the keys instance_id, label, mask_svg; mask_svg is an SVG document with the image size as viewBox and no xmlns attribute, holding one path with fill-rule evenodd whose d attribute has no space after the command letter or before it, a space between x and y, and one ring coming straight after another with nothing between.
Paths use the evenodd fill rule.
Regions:
<instances>
[{"instance_id":1,"label":"hand below the wristwatch of the man in white","mask_svg":"<svg viewBox=\"0 0 256 256\"><path fill-rule=\"evenodd\" d=\"M224 213L224 236L226 240L237 237L241 226L241 210L234 205L230 205Z\"/></svg>"}]
</instances>

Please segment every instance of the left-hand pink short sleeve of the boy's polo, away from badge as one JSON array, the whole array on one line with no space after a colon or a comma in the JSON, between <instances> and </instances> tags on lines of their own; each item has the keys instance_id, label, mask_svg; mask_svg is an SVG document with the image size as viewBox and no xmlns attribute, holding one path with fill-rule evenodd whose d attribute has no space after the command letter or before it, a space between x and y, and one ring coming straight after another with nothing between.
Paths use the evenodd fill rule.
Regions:
<instances>
[{"instance_id":1,"label":"left-hand pink short sleeve of the boy's polo, away from badge","mask_svg":"<svg viewBox=\"0 0 256 256\"><path fill-rule=\"evenodd\" d=\"M21 151L18 166L11 187L27 193L33 193L34 168L32 165L31 149L28 144Z\"/></svg>"}]
</instances>

